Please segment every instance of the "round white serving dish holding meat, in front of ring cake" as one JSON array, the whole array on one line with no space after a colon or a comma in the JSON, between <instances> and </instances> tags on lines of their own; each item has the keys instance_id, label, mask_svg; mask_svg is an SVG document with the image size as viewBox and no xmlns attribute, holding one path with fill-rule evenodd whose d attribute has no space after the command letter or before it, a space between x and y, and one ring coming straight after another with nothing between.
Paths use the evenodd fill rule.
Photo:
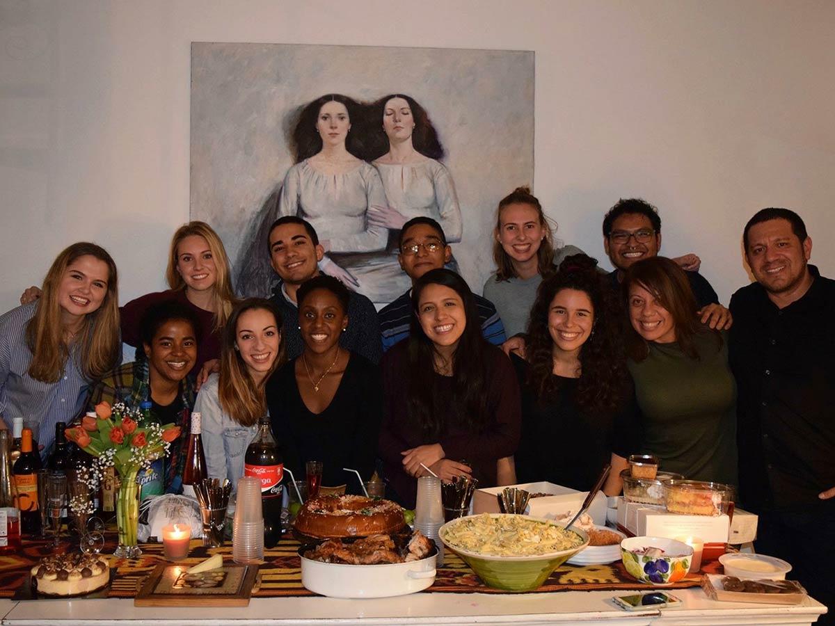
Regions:
<instances>
[{"instance_id":1,"label":"round white serving dish holding meat, in front of ring cake","mask_svg":"<svg viewBox=\"0 0 835 626\"><path fill-rule=\"evenodd\" d=\"M435 582L437 548L420 561L379 565L321 563L302 556L309 548L299 548L301 584L330 598L392 598L423 591Z\"/></svg>"}]
</instances>

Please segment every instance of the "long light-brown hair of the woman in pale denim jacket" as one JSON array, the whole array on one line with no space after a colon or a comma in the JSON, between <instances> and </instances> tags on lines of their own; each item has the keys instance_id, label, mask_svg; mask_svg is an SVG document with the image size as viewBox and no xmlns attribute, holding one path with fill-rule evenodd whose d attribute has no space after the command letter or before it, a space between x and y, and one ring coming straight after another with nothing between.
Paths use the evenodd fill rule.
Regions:
<instances>
[{"instance_id":1,"label":"long light-brown hair of the woman in pale denim jacket","mask_svg":"<svg viewBox=\"0 0 835 626\"><path fill-rule=\"evenodd\" d=\"M252 426L261 416L266 415L264 386L272 373L286 361L282 336L276 360L272 362L272 367L261 384L256 385L250 376L250 371L246 369L246 363L240 356L240 351L235 349L240 316L248 310L258 309L269 311L276 318L276 328L281 332L282 318L278 306L264 298L247 298L241 300L232 310L229 321L223 329L223 339L220 345L218 400L225 413L241 426Z\"/></svg>"}]
</instances>

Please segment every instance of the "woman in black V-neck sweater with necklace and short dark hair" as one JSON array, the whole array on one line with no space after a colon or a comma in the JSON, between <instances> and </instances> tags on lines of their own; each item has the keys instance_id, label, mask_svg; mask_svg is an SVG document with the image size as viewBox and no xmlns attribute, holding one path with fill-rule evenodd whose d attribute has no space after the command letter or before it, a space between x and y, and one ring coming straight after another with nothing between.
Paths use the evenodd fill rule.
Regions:
<instances>
[{"instance_id":1,"label":"woman in black V-neck sweater with necklace and short dark hair","mask_svg":"<svg viewBox=\"0 0 835 626\"><path fill-rule=\"evenodd\" d=\"M347 484L362 493L343 467L372 477L380 430L382 393L379 368L339 346L351 323L348 290L326 275L299 288L299 328L304 350L286 363L266 386L272 432L285 467L297 480L305 462L323 462L322 485Z\"/></svg>"}]
</instances>

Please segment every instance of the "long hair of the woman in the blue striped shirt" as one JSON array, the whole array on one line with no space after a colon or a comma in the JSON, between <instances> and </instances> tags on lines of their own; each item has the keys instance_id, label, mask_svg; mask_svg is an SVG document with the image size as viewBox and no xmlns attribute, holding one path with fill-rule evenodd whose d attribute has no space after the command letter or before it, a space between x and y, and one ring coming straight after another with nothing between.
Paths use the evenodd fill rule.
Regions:
<instances>
[{"instance_id":1,"label":"long hair of the woman in the blue striped shirt","mask_svg":"<svg viewBox=\"0 0 835 626\"><path fill-rule=\"evenodd\" d=\"M69 265L90 255L108 266L107 294L101 306L84 316L74 343L80 346L79 366L84 376L101 378L119 362L119 277L114 260L99 245L86 241L70 245L53 261L43 279L43 293L35 305L35 315L26 326L26 342L32 352L29 376L37 381L56 382L61 377L70 353L63 336L58 290Z\"/></svg>"}]
</instances>

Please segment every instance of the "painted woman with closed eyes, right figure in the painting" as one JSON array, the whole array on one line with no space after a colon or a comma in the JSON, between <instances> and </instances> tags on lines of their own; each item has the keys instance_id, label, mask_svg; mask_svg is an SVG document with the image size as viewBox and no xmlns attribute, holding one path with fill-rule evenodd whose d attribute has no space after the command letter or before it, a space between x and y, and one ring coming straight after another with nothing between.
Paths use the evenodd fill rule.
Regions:
<instances>
[{"instance_id":1,"label":"painted woman with closed eyes, right figure in the painting","mask_svg":"<svg viewBox=\"0 0 835 626\"><path fill-rule=\"evenodd\" d=\"M368 217L389 231L389 271L381 268L377 280L384 280L385 289L396 296L412 286L396 259L402 226L412 218L429 217L441 225L448 243L457 243L461 207L453 177L438 160L443 158L443 146L426 109L411 96L390 93L373 103L370 111L368 157L380 173L388 204L372 206ZM451 260L447 266L454 270L457 264Z\"/></svg>"}]
</instances>

